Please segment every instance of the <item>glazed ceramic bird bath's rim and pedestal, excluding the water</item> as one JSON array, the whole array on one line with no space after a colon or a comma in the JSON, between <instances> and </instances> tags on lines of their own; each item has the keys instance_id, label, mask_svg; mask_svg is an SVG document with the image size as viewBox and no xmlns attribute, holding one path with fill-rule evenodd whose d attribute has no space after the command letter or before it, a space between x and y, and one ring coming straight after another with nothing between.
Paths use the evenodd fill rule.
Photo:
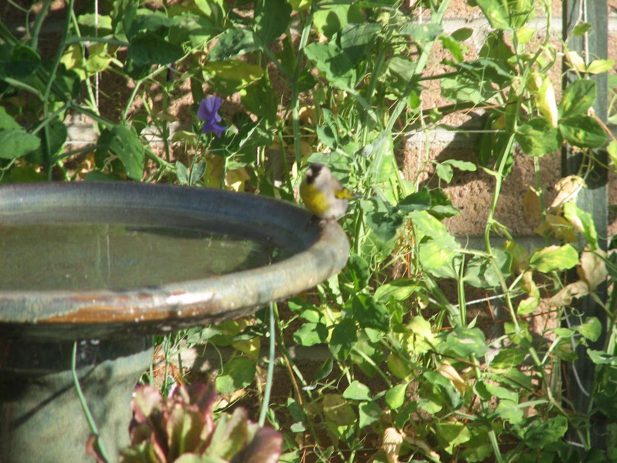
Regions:
<instances>
[{"instance_id":1,"label":"glazed ceramic bird bath's rim and pedestal, excluding the water","mask_svg":"<svg viewBox=\"0 0 617 463\"><path fill-rule=\"evenodd\" d=\"M210 230L274 243L290 256L122 290L0 290L0 461L91 461L78 382L117 462L129 443L133 388L152 362L152 335L249 314L326 280L349 254L336 222L254 194L128 181L0 186L0 229L49 223Z\"/></svg>"}]
</instances>

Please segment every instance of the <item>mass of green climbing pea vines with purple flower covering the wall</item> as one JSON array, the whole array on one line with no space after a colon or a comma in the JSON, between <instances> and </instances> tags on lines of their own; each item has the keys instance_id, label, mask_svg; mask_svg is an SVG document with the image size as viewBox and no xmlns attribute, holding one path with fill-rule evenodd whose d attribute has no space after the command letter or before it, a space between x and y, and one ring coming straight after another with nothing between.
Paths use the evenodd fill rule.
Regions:
<instances>
[{"instance_id":1,"label":"mass of green climbing pea vines with purple flower covering the wall","mask_svg":"<svg viewBox=\"0 0 617 463\"><path fill-rule=\"evenodd\" d=\"M302 170L326 164L360 196L340 219L346 269L274 306L274 332L263 310L162 338L165 356L231 346L217 391L256 402L260 348L275 336L275 375L290 385L267 407L281 461L615 461L614 286L598 296L617 278L615 254L574 202L589 171L563 178L547 204L540 163L563 147L587 166L602 163L605 149L602 167L615 171L617 143L592 110L589 78L614 62L586 62L555 38L549 3L468 0L488 24L471 53L473 30L444 28L449 0L120 0L97 14L68 0L59 46L46 56L43 1L22 36L0 23L0 181L167 181L296 201ZM541 31L534 18L545 20ZM591 33L587 23L573 30ZM571 83L556 93L562 62ZM97 91L107 75L128 89L111 115ZM438 89L437 106L426 106L428 88ZM188 118L172 111L178 98L190 100ZM445 118L476 109L484 130L473 161L431 161L427 183L402 175L406 133L456 131ZM96 141L67 149L77 117L91 121ZM545 238L533 250L495 217L524 157L537 179L526 201ZM460 214L447 186L474 171L492 181L479 249L446 225ZM489 322L497 335L472 315L478 293L487 312L500 307ZM605 319L580 311L581 298L594 298ZM317 369L296 364L292 346L323 352ZM595 365L583 413L561 376L581 355ZM598 415L606 449L590 438Z\"/></svg>"}]
</instances>

